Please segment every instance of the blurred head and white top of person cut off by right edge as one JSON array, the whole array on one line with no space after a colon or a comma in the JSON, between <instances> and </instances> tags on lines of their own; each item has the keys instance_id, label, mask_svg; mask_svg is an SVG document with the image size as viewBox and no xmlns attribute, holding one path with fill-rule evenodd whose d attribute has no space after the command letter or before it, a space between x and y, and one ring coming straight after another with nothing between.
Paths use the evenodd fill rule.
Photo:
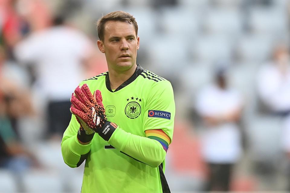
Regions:
<instances>
[{"instance_id":1,"label":"blurred head and white top of person cut off by right edge","mask_svg":"<svg viewBox=\"0 0 290 193\"><path fill-rule=\"evenodd\" d=\"M268 112L290 112L290 55L285 45L274 50L273 60L262 65L258 73L258 93Z\"/></svg>"}]
</instances>

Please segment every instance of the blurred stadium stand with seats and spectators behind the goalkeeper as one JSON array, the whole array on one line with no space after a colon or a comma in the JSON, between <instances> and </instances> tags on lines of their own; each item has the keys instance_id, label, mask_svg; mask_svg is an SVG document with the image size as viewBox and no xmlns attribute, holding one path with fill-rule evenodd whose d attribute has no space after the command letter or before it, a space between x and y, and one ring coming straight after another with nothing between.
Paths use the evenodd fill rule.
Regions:
<instances>
[{"instance_id":1,"label":"blurred stadium stand with seats and spectators behind the goalkeeper","mask_svg":"<svg viewBox=\"0 0 290 193\"><path fill-rule=\"evenodd\" d=\"M73 89L107 71L94 23L116 10L174 89L171 191L288 192L288 0L0 0L0 192L80 192L60 141Z\"/></svg>"}]
</instances>

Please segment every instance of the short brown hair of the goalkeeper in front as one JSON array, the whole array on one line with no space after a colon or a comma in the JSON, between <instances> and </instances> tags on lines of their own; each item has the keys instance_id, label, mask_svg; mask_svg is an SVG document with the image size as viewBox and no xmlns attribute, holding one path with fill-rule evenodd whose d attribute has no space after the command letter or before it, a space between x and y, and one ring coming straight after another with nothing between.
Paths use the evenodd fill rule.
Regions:
<instances>
[{"instance_id":1,"label":"short brown hair of the goalkeeper in front","mask_svg":"<svg viewBox=\"0 0 290 193\"><path fill-rule=\"evenodd\" d=\"M135 20L135 17L133 15L124 12L124 11L113 11L111 13L108 13L107 15L101 17L96 25L97 25L97 30L98 30L98 37L100 40L104 40L104 26L107 21L127 21L129 24L133 24L135 31L136 31L136 36L138 33L138 25Z\"/></svg>"}]
</instances>

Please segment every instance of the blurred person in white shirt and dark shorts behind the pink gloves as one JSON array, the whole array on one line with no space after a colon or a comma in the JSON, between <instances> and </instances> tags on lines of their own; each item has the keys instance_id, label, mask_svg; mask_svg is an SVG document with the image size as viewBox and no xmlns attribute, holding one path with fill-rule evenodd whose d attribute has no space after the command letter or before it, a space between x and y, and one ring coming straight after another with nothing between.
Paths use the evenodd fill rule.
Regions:
<instances>
[{"instance_id":1,"label":"blurred person in white shirt and dark shorts behind the pink gloves","mask_svg":"<svg viewBox=\"0 0 290 193\"><path fill-rule=\"evenodd\" d=\"M34 64L34 89L47 100L48 134L60 137L69 124L70 96L84 77L83 64L92 54L91 41L56 17L53 26L36 31L15 47L22 64Z\"/></svg>"}]
</instances>

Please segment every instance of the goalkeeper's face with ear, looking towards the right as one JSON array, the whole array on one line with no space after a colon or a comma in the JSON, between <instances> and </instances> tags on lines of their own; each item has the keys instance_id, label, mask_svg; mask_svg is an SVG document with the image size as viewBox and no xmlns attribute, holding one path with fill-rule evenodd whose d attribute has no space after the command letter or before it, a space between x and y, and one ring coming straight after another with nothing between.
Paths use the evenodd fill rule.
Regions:
<instances>
[{"instance_id":1,"label":"goalkeeper's face with ear, looking towards the right","mask_svg":"<svg viewBox=\"0 0 290 193\"><path fill-rule=\"evenodd\" d=\"M133 24L127 21L107 21L104 26L104 40L98 40L98 48L105 53L108 68L127 71L136 65L139 37Z\"/></svg>"}]
</instances>

